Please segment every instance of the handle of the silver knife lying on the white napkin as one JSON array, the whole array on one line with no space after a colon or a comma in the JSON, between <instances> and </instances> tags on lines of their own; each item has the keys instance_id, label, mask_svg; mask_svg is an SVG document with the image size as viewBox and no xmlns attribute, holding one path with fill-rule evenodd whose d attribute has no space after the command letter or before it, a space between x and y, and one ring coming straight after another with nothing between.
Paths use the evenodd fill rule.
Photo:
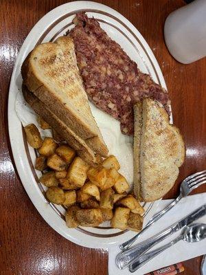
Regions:
<instances>
[{"instance_id":1,"label":"handle of the silver knife lying on the white napkin","mask_svg":"<svg viewBox=\"0 0 206 275\"><path fill-rule=\"evenodd\" d=\"M128 267L131 263L134 263L139 256L144 254L146 251L150 250L154 245L163 241L166 237L170 236L174 232L174 228L168 228L159 234L152 236L150 239L138 243L130 250L120 252L116 257L116 265L120 270Z\"/></svg>"}]
</instances>

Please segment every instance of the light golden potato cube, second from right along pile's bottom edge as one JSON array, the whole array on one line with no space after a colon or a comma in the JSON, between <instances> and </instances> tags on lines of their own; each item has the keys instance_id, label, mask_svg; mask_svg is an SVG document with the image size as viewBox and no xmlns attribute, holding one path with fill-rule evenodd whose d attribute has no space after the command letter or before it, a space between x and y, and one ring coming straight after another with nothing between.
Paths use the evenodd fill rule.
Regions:
<instances>
[{"instance_id":1,"label":"light golden potato cube, second from right along pile's bottom edge","mask_svg":"<svg viewBox=\"0 0 206 275\"><path fill-rule=\"evenodd\" d=\"M111 227L119 228L121 230L126 229L129 214L130 210L128 208L117 207L115 209L115 214L111 219Z\"/></svg>"}]
</instances>

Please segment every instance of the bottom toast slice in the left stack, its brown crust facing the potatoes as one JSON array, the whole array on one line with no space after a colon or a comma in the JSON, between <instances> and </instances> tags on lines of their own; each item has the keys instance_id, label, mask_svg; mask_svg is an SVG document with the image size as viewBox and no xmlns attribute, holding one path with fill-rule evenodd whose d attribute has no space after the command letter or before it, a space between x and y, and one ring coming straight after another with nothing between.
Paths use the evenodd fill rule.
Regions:
<instances>
[{"instance_id":1,"label":"bottom toast slice in the left stack, its brown crust facing the potatoes","mask_svg":"<svg viewBox=\"0 0 206 275\"><path fill-rule=\"evenodd\" d=\"M97 166L101 160L98 155L87 146L87 144L82 140L76 133L73 133L68 126L66 126L58 117L50 111L46 105L41 102L32 92L30 92L25 85L22 86L23 96L28 104L41 115L41 118L45 120L52 128L59 133L67 143L74 148L78 155L91 166Z\"/></svg>"}]
</instances>

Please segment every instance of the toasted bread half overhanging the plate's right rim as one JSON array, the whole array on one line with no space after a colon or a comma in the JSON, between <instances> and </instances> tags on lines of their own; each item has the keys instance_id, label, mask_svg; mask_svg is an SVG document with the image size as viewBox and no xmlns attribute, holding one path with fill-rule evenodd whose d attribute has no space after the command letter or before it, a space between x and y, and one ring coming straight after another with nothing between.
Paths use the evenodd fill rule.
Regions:
<instances>
[{"instance_id":1,"label":"toasted bread half overhanging the plate's right rim","mask_svg":"<svg viewBox=\"0 0 206 275\"><path fill-rule=\"evenodd\" d=\"M159 102L146 98L134 109L137 123L134 191L144 201L155 201L174 186L185 159L185 144Z\"/></svg>"}]
</instances>

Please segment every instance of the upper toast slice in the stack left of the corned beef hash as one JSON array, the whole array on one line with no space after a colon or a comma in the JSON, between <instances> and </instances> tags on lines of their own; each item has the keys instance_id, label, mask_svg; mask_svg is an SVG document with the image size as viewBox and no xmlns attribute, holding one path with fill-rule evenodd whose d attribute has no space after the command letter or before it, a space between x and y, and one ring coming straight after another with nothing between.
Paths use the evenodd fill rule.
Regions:
<instances>
[{"instance_id":1,"label":"upper toast slice in the stack left of the corned beef hash","mask_svg":"<svg viewBox=\"0 0 206 275\"><path fill-rule=\"evenodd\" d=\"M47 109L82 140L89 139L93 151L106 157L108 149L89 107L72 39L62 36L55 43L36 46L21 72L24 84Z\"/></svg>"}]
</instances>

